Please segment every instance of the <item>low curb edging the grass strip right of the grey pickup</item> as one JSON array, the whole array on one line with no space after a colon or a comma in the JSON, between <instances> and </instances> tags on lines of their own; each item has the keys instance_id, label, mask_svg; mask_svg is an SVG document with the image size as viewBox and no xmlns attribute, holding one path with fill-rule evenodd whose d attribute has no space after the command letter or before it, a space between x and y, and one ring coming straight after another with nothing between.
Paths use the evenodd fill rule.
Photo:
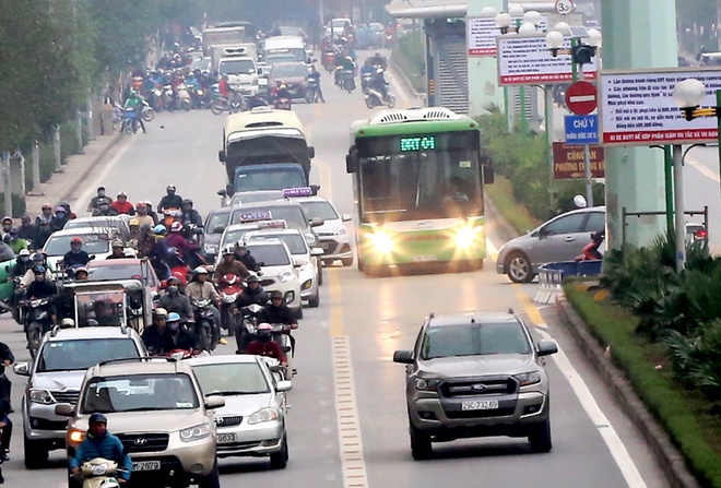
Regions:
<instances>
[{"instance_id":1,"label":"low curb edging the grass strip right of the grey pickup","mask_svg":"<svg viewBox=\"0 0 721 488\"><path fill-rule=\"evenodd\" d=\"M669 435L646 408L624 372L604 357L602 345L591 335L570 303L565 298L559 299L556 301L556 310L583 356L611 388L618 405L648 442L669 484L673 488L700 488L701 485L688 471L683 455L673 445Z\"/></svg>"}]
</instances>

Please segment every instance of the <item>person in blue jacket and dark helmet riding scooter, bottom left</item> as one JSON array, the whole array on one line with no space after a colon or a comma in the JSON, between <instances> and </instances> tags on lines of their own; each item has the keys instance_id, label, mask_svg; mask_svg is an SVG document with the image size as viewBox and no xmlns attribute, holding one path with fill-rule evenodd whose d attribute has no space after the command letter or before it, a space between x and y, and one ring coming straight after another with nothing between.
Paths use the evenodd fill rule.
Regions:
<instances>
[{"instance_id":1,"label":"person in blue jacket and dark helmet riding scooter, bottom left","mask_svg":"<svg viewBox=\"0 0 721 488\"><path fill-rule=\"evenodd\" d=\"M120 439L113 436L107 430L108 419L103 414L93 414L88 420L87 436L78 445L75 457L70 460L70 471L73 475L80 474L80 466L95 457L103 457L118 463L119 483L126 483L130 479L132 462L130 456L125 453Z\"/></svg>"}]
</instances>

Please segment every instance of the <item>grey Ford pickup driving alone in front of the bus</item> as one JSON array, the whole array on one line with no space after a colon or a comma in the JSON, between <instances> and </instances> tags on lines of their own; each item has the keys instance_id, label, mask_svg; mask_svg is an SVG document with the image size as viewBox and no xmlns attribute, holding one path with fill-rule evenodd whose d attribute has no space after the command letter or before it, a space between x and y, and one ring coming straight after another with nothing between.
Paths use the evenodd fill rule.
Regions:
<instances>
[{"instance_id":1,"label":"grey Ford pickup driving alone in front of the bus","mask_svg":"<svg viewBox=\"0 0 721 488\"><path fill-rule=\"evenodd\" d=\"M551 451L545 356L557 352L512 310L432 313L414 348L393 354L405 365L413 457L430 457L433 442L488 436L527 437L534 452Z\"/></svg>"}]
</instances>

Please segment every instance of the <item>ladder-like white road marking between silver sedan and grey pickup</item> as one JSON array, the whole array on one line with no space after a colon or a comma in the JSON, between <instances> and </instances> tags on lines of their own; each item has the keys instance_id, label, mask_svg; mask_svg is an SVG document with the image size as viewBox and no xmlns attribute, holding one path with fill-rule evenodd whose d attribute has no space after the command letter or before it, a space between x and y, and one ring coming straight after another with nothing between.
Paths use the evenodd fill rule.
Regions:
<instances>
[{"instance_id":1,"label":"ladder-like white road marking between silver sedan and grey pickup","mask_svg":"<svg viewBox=\"0 0 721 488\"><path fill-rule=\"evenodd\" d=\"M351 343L345 335L333 337L333 382L341 469L345 488L367 488L366 461L363 456L358 405L351 360Z\"/></svg>"}]
</instances>

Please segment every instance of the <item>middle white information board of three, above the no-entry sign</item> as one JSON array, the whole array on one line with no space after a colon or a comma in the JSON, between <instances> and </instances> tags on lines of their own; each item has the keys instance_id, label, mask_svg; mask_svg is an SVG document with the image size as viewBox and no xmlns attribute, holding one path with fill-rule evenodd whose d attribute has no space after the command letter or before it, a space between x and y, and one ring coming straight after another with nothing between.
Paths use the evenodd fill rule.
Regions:
<instances>
[{"instance_id":1,"label":"middle white information board of three, above the no-entry sign","mask_svg":"<svg viewBox=\"0 0 721 488\"><path fill-rule=\"evenodd\" d=\"M540 36L499 36L498 81L501 85L545 85L570 83L574 81L574 68L570 55L558 53L553 57L546 46L545 35ZM562 49L570 49L567 38ZM596 58L583 64L583 78L594 80Z\"/></svg>"}]
</instances>

